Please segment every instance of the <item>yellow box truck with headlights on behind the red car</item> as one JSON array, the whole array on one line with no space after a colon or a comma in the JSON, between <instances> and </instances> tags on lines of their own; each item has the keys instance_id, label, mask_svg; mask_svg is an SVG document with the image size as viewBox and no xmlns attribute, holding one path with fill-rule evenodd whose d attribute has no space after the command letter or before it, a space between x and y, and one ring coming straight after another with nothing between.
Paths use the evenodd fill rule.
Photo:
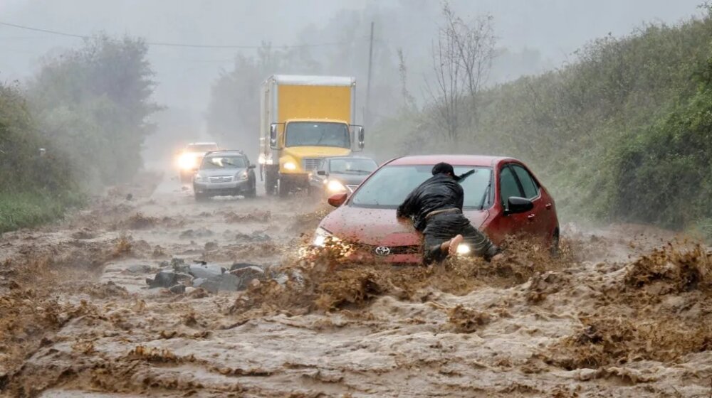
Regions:
<instances>
[{"instance_id":1,"label":"yellow box truck with headlights on behind the red car","mask_svg":"<svg viewBox=\"0 0 712 398\"><path fill-rule=\"evenodd\" d=\"M307 189L322 158L364 145L353 77L273 75L261 90L260 163L268 195Z\"/></svg>"}]
</instances>

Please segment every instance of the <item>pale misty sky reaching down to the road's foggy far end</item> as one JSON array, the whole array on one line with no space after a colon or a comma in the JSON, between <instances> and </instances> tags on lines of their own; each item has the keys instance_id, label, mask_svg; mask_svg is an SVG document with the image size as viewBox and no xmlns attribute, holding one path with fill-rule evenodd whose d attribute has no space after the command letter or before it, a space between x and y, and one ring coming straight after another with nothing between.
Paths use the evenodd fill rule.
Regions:
<instances>
[{"instance_id":1,"label":"pale misty sky reaching down to the road's foggy far end","mask_svg":"<svg viewBox=\"0 0 712 398\"><path fill-rule=\"evenodd\" d=\"M454 1L453 8L463 16L493 16L497 45L511 56L495 60L490 82L503 82L556 68L593 38L609 33L627 35L644 22L676 23L699 14L698 4L698 0L491 0ZM325 66L318 72L355 75L360 87L365 87L371 21L377 21L375 51L394 58L394 50L402 48L412 74L410 86L420 100L421 76L431 72L429 53L440 11L439 1L426 0L4 0L0 3L1 22L48 31L80 36L104 32L157 43L251 47L150 46L148 60L157 82L155 99L174 115L169 117L171 128L187 124L179 127L184 131L174 132L185 139L189 136L210 139L204 115L211 85L221 71L231 69L236 55L252 56L263 43L271 43L274 48L307 45L324 65L338 65ZM26 79L36 72L38 60L47 53L57 53L80 42L80 38L0 26L0 48L4 54L0 59L0 79ZM347 63L333 62L333 58L342 56L343 48L352 52ZM379 75L381 79L397 77L392 60L375 63L373 68L375 80ZM164 134L170 133L162 131L160 136ZM159 144L151 139L148 143Z\"/></svg>"}]
</instances>

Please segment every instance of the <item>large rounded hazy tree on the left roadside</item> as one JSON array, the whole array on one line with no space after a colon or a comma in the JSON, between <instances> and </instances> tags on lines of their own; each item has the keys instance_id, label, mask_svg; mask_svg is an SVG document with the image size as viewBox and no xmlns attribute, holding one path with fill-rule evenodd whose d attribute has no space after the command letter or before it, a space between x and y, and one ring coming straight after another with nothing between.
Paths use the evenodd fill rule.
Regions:
<instances>
[{"instance_id":1,"label":"large rounded hazy tree on the left roadside","mask_svg":"<svg viewBox=\"0 0 712 398\"><path fill-rule=\"evenodd\" d=\"M140 39L95 36L47 60L29 96L48 139L73 159L94 187L126 181L142 166L140 149L153 131L147 117L155 83Z\"/></svg>"}]
</instances>

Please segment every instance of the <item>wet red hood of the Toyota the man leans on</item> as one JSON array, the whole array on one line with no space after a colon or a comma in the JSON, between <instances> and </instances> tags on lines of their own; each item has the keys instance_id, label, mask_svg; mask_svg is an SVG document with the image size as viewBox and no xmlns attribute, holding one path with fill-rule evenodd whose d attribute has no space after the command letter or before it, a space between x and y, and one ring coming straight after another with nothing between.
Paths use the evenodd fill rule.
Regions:
<instances>
[{"instance_id":1,"label":"wet red hood of the Toyota the man leans on","mask_svg":"<svg viewBox=\"0 0 712 398\"><path fill-rule=\"evenodd\" d=\"M466 211L472 225L480 227L488 210ZM327 215L319 225L335 237L372 246L412 246L420 244L421 235L412 222L397 220L395 209L370 209L342 206Z\"/></svg>"}]
</instances>

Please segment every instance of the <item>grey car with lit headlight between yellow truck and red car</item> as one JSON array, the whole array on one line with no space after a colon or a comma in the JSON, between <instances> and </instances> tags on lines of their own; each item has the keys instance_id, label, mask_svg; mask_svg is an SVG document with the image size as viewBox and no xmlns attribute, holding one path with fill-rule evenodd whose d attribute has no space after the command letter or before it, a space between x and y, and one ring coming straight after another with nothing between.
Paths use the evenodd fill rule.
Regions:
<instances>
[{"instance_id":1,"label":"grey car with lit headlight between yellow truck and red car","mask_svg":"<svg viewBox=\"0 0 712 398\"><path fill-rule=\"evenodd\" d=\"M309 178L310 190L328 198L335 193L351 194L378 168L372 158L334 156L323 158Z\"/></svg>"}]
</instances>

